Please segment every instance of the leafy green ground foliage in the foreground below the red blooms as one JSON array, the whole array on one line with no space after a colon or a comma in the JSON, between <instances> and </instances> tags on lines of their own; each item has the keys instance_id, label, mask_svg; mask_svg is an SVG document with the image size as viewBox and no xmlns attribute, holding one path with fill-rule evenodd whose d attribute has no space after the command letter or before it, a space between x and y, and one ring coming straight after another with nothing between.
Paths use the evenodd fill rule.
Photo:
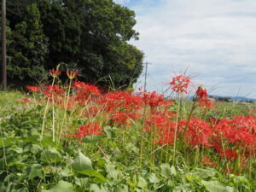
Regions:
<instances>
[{"instance_id":1,"label":"leafy green ground foliage in the foreground below the red blooms","mask_svg":"<svg viewBox=\"0 0 256 192\"><path fill-rule=\"evenodd\" d=\"M60 142L53 142L49 134L53 111L46 115L46 131L41 135L44 102L20 104L15 102L20 93L0 94L0 192L251 192L256 189L255 178L192 166L190 161L194 156L189 151L177 154L176 166L160 159L153 165L145 145L148 157L143 157L140 163L137 125L127 130L106 125L102 127L102 135L79 138L78 142L68 137L69 131L88 119L68 110L68 132ZM56 117L61 119L63 108L54 107ZM6 115L9 117L5 118ZM56 119L55 125L60 119ZM211 156L211 152L207 153Z\"/></svg>"}]
</instances>

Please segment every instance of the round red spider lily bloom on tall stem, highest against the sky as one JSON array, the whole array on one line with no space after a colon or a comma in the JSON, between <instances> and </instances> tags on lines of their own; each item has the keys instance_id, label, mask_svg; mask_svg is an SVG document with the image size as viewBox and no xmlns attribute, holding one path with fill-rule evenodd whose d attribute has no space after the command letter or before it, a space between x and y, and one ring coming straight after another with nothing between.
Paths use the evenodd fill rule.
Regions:
<instances>
[{"instance_id":1,"label":"round red spider lily bloom on tall stem, highest against the sky","mask_svg":"<svg viewBox=\"0 0 256 192\"><path fill-rule=\"evenodd\" d=\"M172 79L170 83L172 85L172 90L177 93L187 93L189 87L190 79L189 76L178 75Z\"/></svg>"}]
</instances>

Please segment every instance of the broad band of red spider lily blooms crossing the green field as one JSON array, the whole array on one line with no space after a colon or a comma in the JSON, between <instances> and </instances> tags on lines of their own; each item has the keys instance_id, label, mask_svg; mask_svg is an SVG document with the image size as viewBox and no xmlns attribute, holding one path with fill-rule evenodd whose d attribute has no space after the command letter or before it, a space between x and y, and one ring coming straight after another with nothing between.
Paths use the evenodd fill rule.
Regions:
<instances>
[{"instance_id":1,"label":"broad band of red spider lily blooms crossing the green field","mask_svg":"<svg viewBox=\"0 0 256 192\"><path fill-rule=\"evenodd\" d=\"M53 79L61 74L59 70L50 70ZM78 71L68 71L69 86L51 84L48 86L27 86L33 93L41 93L45 100L60 105L66 110L77 110L82 117L90 119L71 137L79 139L91 135L101 135L102 127L112 125L120 129L130 129L140 123L143 134L154 132L154 146L172 148L177 141L182 141L187 148L204 148L215 151L220 158L230 162L239 160L247 166L249 159L256 153L256 116L237 116L233 119L195 118L195 108L201 108L206 114L211 110L212 102L208 100L207 90L201 86L195 91L195 101L187 116L179 113L179 99L187 93L190 84L189 76L178 75L172 79L170 86L177 93L174 104L157 92L109 91L102 93L95 85L77 80ZM24 102L29 102L27 99ZM173 107L176 105L176 110ZM78 110L79 109L79 110ZM102 116L101 122L96 119ZM174 147L174 151L177 150ZM211 158L204 157L204 162L215 166Z\"/></svg>"}]
</instances>

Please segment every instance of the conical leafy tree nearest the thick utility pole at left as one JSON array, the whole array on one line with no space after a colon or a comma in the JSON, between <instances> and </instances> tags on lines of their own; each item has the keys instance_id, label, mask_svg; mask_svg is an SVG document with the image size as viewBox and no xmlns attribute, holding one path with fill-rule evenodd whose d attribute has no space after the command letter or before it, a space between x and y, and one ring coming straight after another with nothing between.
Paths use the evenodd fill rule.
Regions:
<instances>
[{"instance_id":1,"label":"conical leafy tree nearest the thick utility pole at left","mask_svg":"<svg viewBox=\"0 0 256 192\"><path fill-rule=\"evenodd\" d=\"M14 24L9 34L9 79L28 81L43 78L48 38L43 33L37 4L32 3L26 8L23 20L10 20L10 26Z\"/></svg>"}]
</instances>

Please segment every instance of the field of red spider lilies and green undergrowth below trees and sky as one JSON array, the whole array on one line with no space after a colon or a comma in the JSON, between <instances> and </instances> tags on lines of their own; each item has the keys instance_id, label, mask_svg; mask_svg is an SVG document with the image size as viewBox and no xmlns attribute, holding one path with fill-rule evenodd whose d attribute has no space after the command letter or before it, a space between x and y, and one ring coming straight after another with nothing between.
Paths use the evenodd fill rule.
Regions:
<instances>
[{"instance_id":1,"label":"field of red spider lilies and green undergrowth below trees and sky","mask_svg":"<svg viewBox=\"0 0 256 192\"><path fill-rule=\"evenodd\" d=\"M0 191L255 191L253 103L218 105L202 86L184 102L186 75L171 101L49 73L29 96L1 92Z\"/></svg>"}]
</instances>

